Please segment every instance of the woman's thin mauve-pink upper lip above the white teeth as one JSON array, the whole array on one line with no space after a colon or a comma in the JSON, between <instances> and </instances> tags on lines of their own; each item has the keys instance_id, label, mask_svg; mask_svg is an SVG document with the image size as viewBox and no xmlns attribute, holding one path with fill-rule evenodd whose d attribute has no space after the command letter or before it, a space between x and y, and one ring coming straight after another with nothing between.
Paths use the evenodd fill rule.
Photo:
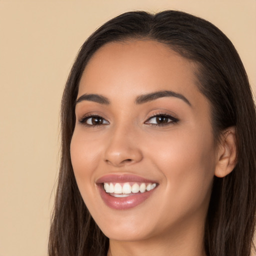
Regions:
<instances>
[{"instance_id":1,"label":"woman's thin mauve-pink upper lip above the white teeth","mask_svg":"<svg viewBox=\"0 0 256 256\"><path fill-rule=\"evenodd\" d=\"M154 180L150 180L134 174L106 174L96 180L96 183L104 182L146 182L146 183L157 183Z\"/></svg>"}]
</instances>

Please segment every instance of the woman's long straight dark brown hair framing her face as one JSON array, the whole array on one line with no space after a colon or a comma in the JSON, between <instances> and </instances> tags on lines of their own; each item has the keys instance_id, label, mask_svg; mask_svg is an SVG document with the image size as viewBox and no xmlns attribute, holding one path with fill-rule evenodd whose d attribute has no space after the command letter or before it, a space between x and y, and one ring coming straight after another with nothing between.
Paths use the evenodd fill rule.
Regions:
<instances>
[{"instance_id":1,"label":"woman's long straight dark brown hair framing her face","mask_svg":"<svg viewBox=\"0 0 256 256\"><path fill-rule=\"evenodd\" d=\"M99 27L81 46L62 97L61 164L49 233L50 256L106 255L108 238L88 212L79 193L70 160L75 125L74 102L86 63L111 41L151 39L162 42L197 66L198 89L211 103L216 143L235 126L237 164L223 178L214 178L205 222L208 256L248 256L256 211L256 115L242 62L230 40L213 24L174 10L150 14L123 13Z\"/></svg>"}]
</instances>

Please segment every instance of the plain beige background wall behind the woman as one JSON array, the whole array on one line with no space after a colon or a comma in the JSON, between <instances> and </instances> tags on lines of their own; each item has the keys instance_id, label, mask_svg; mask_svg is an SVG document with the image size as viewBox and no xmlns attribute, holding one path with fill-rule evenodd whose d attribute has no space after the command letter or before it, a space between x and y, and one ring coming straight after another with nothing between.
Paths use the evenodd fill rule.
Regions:
<instances>
[{"instance_id":1,"label":"plain beige background wall behind the woman","mask_svg":"<svg viewBox=\"0 0 256 256\"><path fill-rule=\"evenodd\" d=\"M0 256L47 254L60 98L82 42L121 12L168 8L226 33L256 91L256 0L0 0Z\"/></svg>"}]
</instances>

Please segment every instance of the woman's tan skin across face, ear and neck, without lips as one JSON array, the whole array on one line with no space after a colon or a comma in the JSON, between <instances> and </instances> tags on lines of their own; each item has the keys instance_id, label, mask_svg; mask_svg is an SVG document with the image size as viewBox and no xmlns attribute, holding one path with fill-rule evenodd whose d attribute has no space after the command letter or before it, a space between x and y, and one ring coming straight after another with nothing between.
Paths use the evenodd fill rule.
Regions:
<instances>
[{"instance_id":1,"label":"woman's tan skin across face, ear and neck, without lips","mask_svg":"<svg viewBox=\"0 0 256 256\"><path fill-rule=\"evenodd\" d=\"M195 85L195 70L164 44L131 40L102 46L83 72L77 98L91 93L109 102L76 104L70 153L82 198L109 237L108 256L204 255L212 180L233 169L235 141L231 127L215 149L210 105ZM136 102L166 90L176 94ZM112 173L158 186L139 205L113 209L95 184Z\"/></svg>"}]
</instances>

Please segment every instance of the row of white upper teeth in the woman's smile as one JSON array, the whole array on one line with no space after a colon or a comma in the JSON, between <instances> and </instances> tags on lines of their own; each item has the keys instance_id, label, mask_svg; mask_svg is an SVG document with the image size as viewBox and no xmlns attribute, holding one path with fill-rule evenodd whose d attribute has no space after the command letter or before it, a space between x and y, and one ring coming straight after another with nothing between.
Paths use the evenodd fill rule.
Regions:
<instances>
[{"instance_id":1,"label":"row of white upper teeth in the woman's smile","mask_svg":"<svg viewBox=\"0 0 256 256\"><path fill-rule=\"evenodd\" d=\"M130 194L130 193L137 193L137 192L145 192L155 188L156 183L115 183L112 182L107 183L104 182L104 189L107 193L115 193L115 194Z\"/></svg>"}]
</instances>

